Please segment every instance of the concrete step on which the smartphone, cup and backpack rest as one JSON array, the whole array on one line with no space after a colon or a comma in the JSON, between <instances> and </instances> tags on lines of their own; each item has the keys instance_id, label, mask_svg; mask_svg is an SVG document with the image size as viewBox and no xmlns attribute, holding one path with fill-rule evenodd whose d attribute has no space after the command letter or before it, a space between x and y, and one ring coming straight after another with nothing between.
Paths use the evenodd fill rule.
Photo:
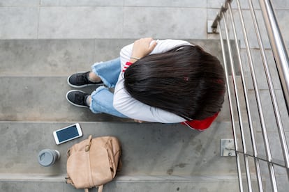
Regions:
<instances>
[{"instance_id":1,"label":"concrete step on which the smartphone, cup and backpack rest","mask_svg":"<svg viewBox=\"0 0 289 192\"><path fill-rule=\"evenodd\" d=\"M230 123L214 122L207 131L159 123L80 122L84 136L61 145L52 131L71 122L0 122L3 146L0 173L66 173L66 152L92 136L117 136L122 145L121 175L217 175L236 172L235 157L220 157L221 138L231 138ZM49 168L38 164L40 150L59 150L61 159ZM9 149L9 150L7 150Z\"/></svg>"}]
</instances>

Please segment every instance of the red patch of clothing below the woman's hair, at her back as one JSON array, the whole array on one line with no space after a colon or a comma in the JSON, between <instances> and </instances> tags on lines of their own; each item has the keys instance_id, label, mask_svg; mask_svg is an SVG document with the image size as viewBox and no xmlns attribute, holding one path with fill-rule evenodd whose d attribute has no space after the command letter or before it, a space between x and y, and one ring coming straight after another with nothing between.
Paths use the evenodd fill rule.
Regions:
<instances>
[{"instance_id":1,"label":"red patch of clothing below the woman's hair, at her back","mask_svg":"<svg viewBox=\"0 0 289 192\"><path fill-rule=\"evenodd\" d=\"M213 115L212 117L205 118L204 120L187 120L185 122L181 122L181 124L186 125L191 129L205 130L209 128L209 126L212 124L212 122L216 119L217 116L218 112L215 113L215 115Z\"/></svg>"}]
</instances>

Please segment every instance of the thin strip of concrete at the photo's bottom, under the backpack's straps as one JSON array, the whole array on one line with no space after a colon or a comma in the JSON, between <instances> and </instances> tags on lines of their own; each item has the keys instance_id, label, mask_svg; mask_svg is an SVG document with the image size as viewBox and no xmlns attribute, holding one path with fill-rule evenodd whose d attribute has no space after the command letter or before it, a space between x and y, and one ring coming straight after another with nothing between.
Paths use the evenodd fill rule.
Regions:
<instances>
[{"instance_id":1,"label":"thin strip of concrete at the photo's bottom, under the backpack's straps","mask_svg":"<svg viewBox=\"0 0 289 192\"><path fill-rule=\"evenodd\" d=\"M181 179L180 181L178 179ZM209 182L209 185L207 184ZM103 191L122 192L122 191L228 191L237 190L236 177L196 177L184 178L177 177L174 180L158 179L158 177L142 177L141 180L135 177L117 177L113 182L104 186ZM74 189L73 186L64 182L1 182L0 189L3 191L23 191L23 192L44 192L47 189L59 189L59 191L72 192L83 191ZM91 189L90 191L96 191Z\"/></svg>"}]
</instances>

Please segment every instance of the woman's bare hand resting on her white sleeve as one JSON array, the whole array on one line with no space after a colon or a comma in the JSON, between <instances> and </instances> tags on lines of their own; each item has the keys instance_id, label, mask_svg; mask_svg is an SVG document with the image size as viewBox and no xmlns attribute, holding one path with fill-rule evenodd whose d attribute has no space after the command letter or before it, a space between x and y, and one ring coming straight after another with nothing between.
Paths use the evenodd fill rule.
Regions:
<instances>
[{"instance_id":1,"label":"woman's bare hand resting on her white sleeve","mask_svg":"<svg viewBox=\"0 0 289 192\"><path fill-rule=\"evenodd\" d=\"M152 50L154 50L154 47L156 47L156 41L153 38L142 38L136 40L133 44L131 60L134 60L133 62L135 62L138 59L147 56Z\"/></svg>"}]
</instances>

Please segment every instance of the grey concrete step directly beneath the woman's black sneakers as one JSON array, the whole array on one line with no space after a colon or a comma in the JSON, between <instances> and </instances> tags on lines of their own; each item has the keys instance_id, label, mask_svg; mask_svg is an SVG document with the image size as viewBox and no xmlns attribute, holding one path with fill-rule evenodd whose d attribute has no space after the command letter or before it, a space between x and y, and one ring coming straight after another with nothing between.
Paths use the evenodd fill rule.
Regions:
<instances>
[{"instance_id":1,"label":"grey concrete step directly beneath the woman's black sneakers","mask_svg":"<svg viewBox=\"0 0 289 192\"><path fill-rule=\"evenodd\" d=\"M66 101L67 77L0 77L0 120L12 121L127 121L94 114ZM91 93L96 87L83 88Z\"/></svg>"}]
</instances>

